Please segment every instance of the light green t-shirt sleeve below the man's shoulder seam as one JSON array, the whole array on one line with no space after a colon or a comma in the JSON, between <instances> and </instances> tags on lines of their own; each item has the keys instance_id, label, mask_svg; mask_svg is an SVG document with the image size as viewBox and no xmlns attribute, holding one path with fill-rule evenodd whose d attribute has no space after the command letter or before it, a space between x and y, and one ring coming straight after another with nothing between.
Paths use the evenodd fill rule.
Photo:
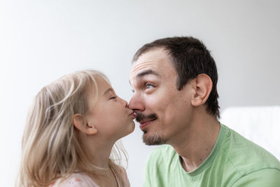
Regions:
<instances>
[{"instance_id":1,"label":"light green t-shirt sleeve below the man's shoulder seam","mask_svg":"<svg viewBox=\"0 0 280 187\"><path fill-rule=\"evenodd\" d=\"M232 187L276 187L280 186L279 169L267 168L246 174L235 181Z\"/></svg>"}]
</instances>

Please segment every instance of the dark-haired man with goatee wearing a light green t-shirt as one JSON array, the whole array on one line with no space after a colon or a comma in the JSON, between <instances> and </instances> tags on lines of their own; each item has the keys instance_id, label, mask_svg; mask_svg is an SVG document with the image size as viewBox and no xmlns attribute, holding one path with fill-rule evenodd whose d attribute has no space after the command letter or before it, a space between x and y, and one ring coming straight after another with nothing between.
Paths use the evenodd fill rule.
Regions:
<instances>
[{"instance_id":1,"label":"dark-haired man with goatee wearing a light green t-shirt","mask_svg":"<svg viewBox=\"0 0 280 187\"><path fill-rule=\"evenodd\" d=\"M129 107L147 145L144 186L280 186L280 162L219 123L218 74L193 37L159 39L134 55Z\"/></svg>"}]
</instances>

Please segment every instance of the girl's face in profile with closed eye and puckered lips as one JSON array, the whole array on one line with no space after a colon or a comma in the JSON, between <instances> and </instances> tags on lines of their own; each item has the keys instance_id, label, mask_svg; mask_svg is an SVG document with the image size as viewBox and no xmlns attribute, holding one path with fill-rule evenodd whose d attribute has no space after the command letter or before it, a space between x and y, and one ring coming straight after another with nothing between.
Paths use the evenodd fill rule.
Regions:
<instances>
[{"instance_id":1,"label":"girl's face in profile with closed eye and puckered lips","mask_svg":"<svg viewBox=\"0 0 280 187\"><path fill-rule=\"evenodd\" d=\"M111 85L103 78L97 78L98 97L94 103L94 92L87 95L89 111L86 118L94 125L97 134L104 139L116 141L133 132L135 114L127 108L127 102L118 97Z\"/></svg>"}]
</instances>

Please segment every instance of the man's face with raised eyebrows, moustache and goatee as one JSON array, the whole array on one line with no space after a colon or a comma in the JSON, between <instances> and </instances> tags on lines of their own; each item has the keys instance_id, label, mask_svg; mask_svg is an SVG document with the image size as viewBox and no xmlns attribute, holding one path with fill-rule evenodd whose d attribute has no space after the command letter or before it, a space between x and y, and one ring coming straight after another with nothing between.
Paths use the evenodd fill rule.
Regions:
<instances>
[{"instance_id":1,"label":"man's face with raised eyebrows, moustache and goatee","mask_svg":"<svg viewBox=\"0 0 280 187\"><path fill-rule=\"evenodd\" d=\"M163 48L149 50L133 64L130 83L134 95L129 107L137 113L147 145L173 144L188 128L192 85L179 91L176 78L172 57Z\"/></svg>"}]
</instances>

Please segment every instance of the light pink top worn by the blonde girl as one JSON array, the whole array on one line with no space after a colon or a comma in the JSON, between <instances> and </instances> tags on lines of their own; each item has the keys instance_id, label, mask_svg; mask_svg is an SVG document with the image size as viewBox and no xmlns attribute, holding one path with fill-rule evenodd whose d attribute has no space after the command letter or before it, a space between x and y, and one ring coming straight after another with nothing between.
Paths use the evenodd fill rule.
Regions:
<instances>
[{"instance_id":1,"label":"light pink top worn by the blonde girl","mask_svg":"<svg viewBox=\"0 0 280 187\"><path fill-rule=\"evenodd\" d=\"M127 178L127 173L124 168L121 169L120 174L123 176L123 181L125 181L125 187L130 187L130 181ZM99 187L90 176L87 176L87 174L83 172L71 174L69 178L62 183L59 183L60 180L61 179L58 179L55 183L50 185L50 187ZM119 182L118 186L120 186Z\"/></svg>"}]
</instances>

